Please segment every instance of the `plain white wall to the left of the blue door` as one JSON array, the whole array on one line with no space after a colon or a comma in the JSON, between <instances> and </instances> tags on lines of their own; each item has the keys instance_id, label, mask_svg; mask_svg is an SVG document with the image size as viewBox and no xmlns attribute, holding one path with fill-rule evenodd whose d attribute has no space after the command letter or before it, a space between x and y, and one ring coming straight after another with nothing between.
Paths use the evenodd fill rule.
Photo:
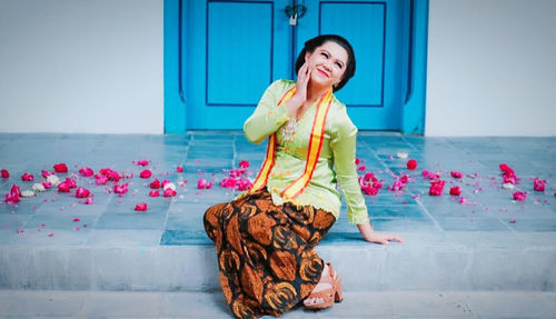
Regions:
<instances>
[{"instance_id":1,"label":"plain white wall to the left of the blue door","mask_svg":"<svg viewBox=\"0 0 556 319\"><path fill-rule=\"evenodd\" d=\"M0 0L0 132L162 132L162 0Z\"/></svg>"}]
</instances>

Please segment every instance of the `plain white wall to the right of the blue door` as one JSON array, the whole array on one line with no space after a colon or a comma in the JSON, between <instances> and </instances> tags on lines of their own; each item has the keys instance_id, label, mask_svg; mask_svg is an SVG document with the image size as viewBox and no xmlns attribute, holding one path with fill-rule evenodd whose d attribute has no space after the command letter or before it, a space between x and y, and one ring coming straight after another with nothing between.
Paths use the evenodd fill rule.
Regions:
<instances>
[{"instance_id":1,"label":"plain white wall to the right of the blue door","mask_svg":"<svg viewBox=\"0 0 556 319\"><path fill-rule=\"evenodd\" d=\"M556 1L430 0L427 136L556 136Z\"/></svg>"}]
</instances>

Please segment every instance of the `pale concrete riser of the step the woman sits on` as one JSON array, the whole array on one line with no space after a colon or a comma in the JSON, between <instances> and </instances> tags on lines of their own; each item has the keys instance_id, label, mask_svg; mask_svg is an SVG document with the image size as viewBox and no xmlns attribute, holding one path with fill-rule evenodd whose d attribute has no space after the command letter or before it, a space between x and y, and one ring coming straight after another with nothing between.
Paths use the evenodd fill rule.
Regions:
<instances>
[{"instance_id":1,"label":"pale concrete riser of the step the woman sits on","mask_svg":"<svg viewBox=\"0 0 556 319\"><path fill-rule=\"evenodd\" d=\"M359 240L358 233L332 231L317 251L332 262L347 291L556 291L556 235L553 232L400 235L405 236L405 243L379 246ZM219 289L216 249L205 237L197 239L199 245L178 245L179 238L175 238L175 245L166 246L148 245L149 233L142 237L137 230L111 231L112 242L111 237L105 236L109 242L98 245L0 246L0 288Z\"/></svg>"}]
</instances>

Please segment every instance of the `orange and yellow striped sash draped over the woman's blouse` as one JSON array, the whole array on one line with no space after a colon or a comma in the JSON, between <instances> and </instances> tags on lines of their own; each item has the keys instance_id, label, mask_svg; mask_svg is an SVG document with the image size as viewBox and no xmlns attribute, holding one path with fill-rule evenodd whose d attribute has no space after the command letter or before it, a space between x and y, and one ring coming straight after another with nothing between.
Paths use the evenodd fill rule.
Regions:
<instances>
[{"instance_id":1,"label":"orange and yellow striped sash draped over the woman's blouse","mask_svg":"<svg viewBox=\"0 0 556 319\"><path fill-rule=\"evenodd\" d=\"M296 87L289 89L280 99L278 106L286 103L294 96L295 92L296 92ZM285 200L295 199L298 195L300 195L305 190L305 188L307 187L312 177L312 172L317 167L320 149L322 148L322 141L325 139L326 117L328 114L328 110L330 109L331 100L332 100L332 90L330 89L328 90L328 92L322 94L320 101L317 103L317 113L315 114L315 120L312 122L305 170L299 178L297 178L295 181L288 185L280 192L280 196ZM255 179L255 182L252 183L249 193L254 193L262 189L267 185L268 176L270 175L270 170L272 169L272 166L275 163L275 154L276 154L276 132L268 138L267 157L265 158L265 162L262 162L262 167L259 171L259 175Z\"/></svg>"}]
</instances>

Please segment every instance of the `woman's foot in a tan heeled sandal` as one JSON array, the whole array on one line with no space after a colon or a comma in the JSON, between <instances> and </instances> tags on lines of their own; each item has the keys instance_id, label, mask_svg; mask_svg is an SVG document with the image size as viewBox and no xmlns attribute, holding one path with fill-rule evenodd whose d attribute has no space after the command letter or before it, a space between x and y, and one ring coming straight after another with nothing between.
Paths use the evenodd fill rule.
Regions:
<instances>
[{"instance_id":1,"label":"woman's foot in a tan heeled sandal","mask_svg":"<svg viewBox=\"0 0 556 319\"><path fill-rule=\"evenodd\" d=\"M304 300L307 309L325 309L341 301L341 279L330 263L325 263L320 280Z\"/></svg>"}]
</instances>

